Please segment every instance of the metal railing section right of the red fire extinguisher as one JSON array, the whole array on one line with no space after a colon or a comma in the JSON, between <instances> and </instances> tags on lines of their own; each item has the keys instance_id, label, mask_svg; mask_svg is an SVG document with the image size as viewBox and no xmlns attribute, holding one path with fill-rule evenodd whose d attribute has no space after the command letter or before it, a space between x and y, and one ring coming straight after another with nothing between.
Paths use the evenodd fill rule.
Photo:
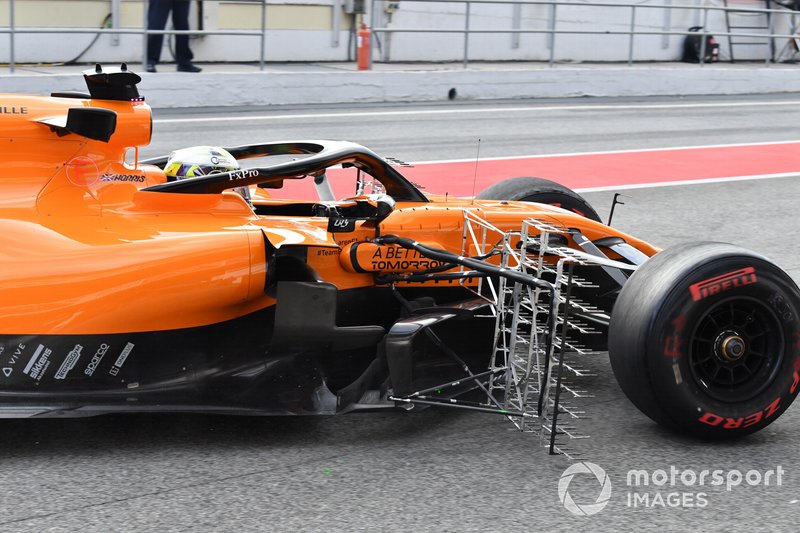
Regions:
<instances>
[{"instance_id":1,"label":"metal railing section right of the red fire extinguisher","mask_svg":"<svg viewBox=\"0 0 800 533\"><path fill-rule=\"evenodd\" d=\"M440 33L440 34L463 34L464 41L463 41L463 59L462 62L464 64L464 68L467 68L469 65L469 38L472 34L510 34L513 36L517 36L517 43L518 36L521 34L546 34L548 35L548 42L547 46L549 48L549 58L548 63L550 66L553 66L556 62L555 60L555 50L556 50L556 36L557 35L628 35L628 65L633 64L633 51L634 51L634 37L637 35L661 35L665 38L671 35L697 35L696 32L689 32L689 31L676 31L669 28L668 23L665 21L664 29L663 30L637 30L636 29L636 14L637 10L641 9L662 9L665 10L666 13L672 13L676 10L688 10L688 11L700 11L702 13L702 31L700 32L701 35L701 50L700 50L700 64L702 65L705 63L704 56L706 52L706 37L711 35L711 32L708 31L708 14L709 12L729 12L735 14L751 14L751 15L758 15L758 14L765 14L769 15L767 18L769 19L769 27L767 33L753 33L753 32L731 32L731 31L715 31L713 32L714 37L746 37L746 38L756 38L756 39L764 39L765 41L774 42L775 39L798 39L798 35L795 33L791 34L783 34L783 33L774 33L774 20L776 14L781 15L791 15L792 13L797 13L795 11L788 10L786 8L779 8L779 9L759 9L759 8L748 8L748 7L738 7L738 6L692 6L692 5L674 5L674 4L645 4L645 3L618 3L618 2L603 2L603 1L586 1L586 2L575 2L569 0L403 0L404 4L407 3L421 3L421 4L432 4L432 3L442 3L442 4L464 4L464 27L463 29L441 29L441 28L390 28L390 27L378 27L377 21L377 13L378 10L375 9L375 4L379 1L383 0L370 0L371 2L371 18L370 18L370 27L372 28L373 35L379 34L393 34L393 33ZM472 26L472 5L473 4L491 4L491 5L513 5L513 6L526 6L526 5L542 5L542 6L549 6L550 7L550 14L548 16L548 27L547 28L532 28L532 29L523 29L520 27L519 24L519 9L514 10L514 20L512 21L511 28L476 28ZM559 29L558 26L558 14L557 9L558 7L579 7L582 9L591 8L591 7L602 7L602 8L613 8L613 9L628 9L630 10L630 17L629 17L629 29L628 30L591 30L591 29ZM668 19L667 19L668 20ZM771 47L768 55L765 57L765 63L769 64L772 58ZM372 58L370 57L370 60ZM370 62L370 68L371 68Z\"/></svg>"}]
</instances>

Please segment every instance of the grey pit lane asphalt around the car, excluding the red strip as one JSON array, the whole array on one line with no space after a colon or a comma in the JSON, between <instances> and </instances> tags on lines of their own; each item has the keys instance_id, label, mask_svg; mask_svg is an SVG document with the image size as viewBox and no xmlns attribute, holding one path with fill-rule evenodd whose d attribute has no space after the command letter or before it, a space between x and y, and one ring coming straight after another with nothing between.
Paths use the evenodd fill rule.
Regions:
<instances>
[{"instance_id":1,"label":"grey pit lane asphalt around the car, excluding the red strip","mask_svg":"<svg viewBox=\"0 0 800 533\"><path fill-rule=\"evenodd\" d=\"M642 103L775 101L637 99ZM777 107L581 111L156 123L143 155L196 143L342 138L409 161L795 140L798 114ZM629 100L603 100L609 104ZM545 102L552 104L553 102ZM521 102L480 106L519 106ZM526 102L540 105L542 102ZM447 104L451 109L459 104ZM471 108L476 104L465 104ZM259 114L439 109L359 106L259 110ZM157 113L156 118L230 117L231 112ZM797 177L638 189L615 226L662 246L731 241L764 253L800 280ZM607 213L612 193L586 197ZM328 418L204 415L106 416L0 421L2 531L796 531L800 518L800 407L748 438L708 443L651 423L623 396L604 357L587 361L595 398L582 422L584 460L612 481L608 506L575 517L561 505L570 464L491 415L427 410ZM782 486L662 487L708 494L705 508L631 508L629 469L775 469ZM579 503L597 495L576 477ZM650 488L651 495L656 492ZM647 489L639 487L639 493ZM581 498L583 497L583 500Z\"/></svg>"}]
</instances>

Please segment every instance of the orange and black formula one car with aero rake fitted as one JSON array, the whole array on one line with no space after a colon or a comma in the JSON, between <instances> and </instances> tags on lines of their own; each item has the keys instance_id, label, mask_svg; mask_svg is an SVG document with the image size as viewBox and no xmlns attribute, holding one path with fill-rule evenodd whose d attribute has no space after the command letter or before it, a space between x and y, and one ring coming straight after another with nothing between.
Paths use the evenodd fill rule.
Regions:
<instances>
[{"instance_id":1,"label":"orange and black formula one car with aero rake fitted","mask_svg":"<svg viewBox=\"0 0 800 533\"><path fill-rule=\"evenodd\" d=\"M589 351L700 437L798 393L798 288L758 254L660 251L542 179L423 194L347 142L231 147L253 165L170 181L167 157L126 162L151 137L139 76L85 78L0 95L0 416L443 405L556 450Z\"/></svg>"}]
</instances>

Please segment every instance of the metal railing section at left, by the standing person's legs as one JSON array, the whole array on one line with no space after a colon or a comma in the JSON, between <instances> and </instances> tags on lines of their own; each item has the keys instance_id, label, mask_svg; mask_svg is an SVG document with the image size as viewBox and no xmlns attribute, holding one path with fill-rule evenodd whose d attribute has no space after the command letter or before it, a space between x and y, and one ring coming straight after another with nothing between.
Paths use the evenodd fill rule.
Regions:
<instances>
[{"instance_id":1,"label":"metal railing section at left, by the standing person's legs","mask_svg":"<svg viewBox=\"0 0 800 533\"><path fill-rule=\"evenodd\" d=\"M142 0L143 21L141 28L124 29L119 27L120 0L111 1L111 28L18 28L15 24L15 0L9 0L9 19L8 28L0 28L0 34L9 35L9 70L14 72L16 67L15 40L20 34L109 34L119 35L141 35L142 36L142 65L147 64L147 37L149 35L239 35L260 38L259 68L264 70L264 41L267 32L267 0L236 0L239 4L259 4L261 5L261 28L259 30L151 30L147 26L147 14L150 0ZM192 1L192 0L187 0ZM194 0L204 2L205 0Z\"/></svg>"}]
</instances>

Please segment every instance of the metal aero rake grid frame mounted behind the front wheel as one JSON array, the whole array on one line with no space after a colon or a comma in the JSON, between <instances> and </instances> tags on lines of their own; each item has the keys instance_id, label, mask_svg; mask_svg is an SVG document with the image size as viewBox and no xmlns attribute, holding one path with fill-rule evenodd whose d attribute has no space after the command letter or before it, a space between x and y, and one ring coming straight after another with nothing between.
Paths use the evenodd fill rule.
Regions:
<instances>
[{"instance_id":1,"label":"metal aero rake grid frame mounted behind the front wheel","mask_svg":"<svg viewBox=\"0 0 800 533\"><path fill-rule=\"evenodd\" d=\"M462 379L390 399L406 405L441 405L502 414L520 431L537 432L550 454L574 458L573 451L557 437L586 437L572 425L559 422L559 415L574 421L583 418L584 412L562 401L562 396L567 395L569 400L590 397L572 380L591 374L568 357L594 352L573 336L601 333L580 317L608 320L603 310L573 295L576 287L596 288L575 276L574 267L632 271L636 265L569 248L562 243L577 230L545 220L531 218L523 222L519 231L503 231L470 209L463 213L461 255L405 239L386 239L422 255L460 265L458 276L462 283L478 279L477 289L471 290L487 302L495 319L488 370L474 374L465 369ZM557 244L552 245L552 241ZM436 274L431 276L435 279ZM449 276L452 279L452 274ZM486 393L485 401L476 403L440 395L470 383Z\"/></svg>"}]
</instances>

